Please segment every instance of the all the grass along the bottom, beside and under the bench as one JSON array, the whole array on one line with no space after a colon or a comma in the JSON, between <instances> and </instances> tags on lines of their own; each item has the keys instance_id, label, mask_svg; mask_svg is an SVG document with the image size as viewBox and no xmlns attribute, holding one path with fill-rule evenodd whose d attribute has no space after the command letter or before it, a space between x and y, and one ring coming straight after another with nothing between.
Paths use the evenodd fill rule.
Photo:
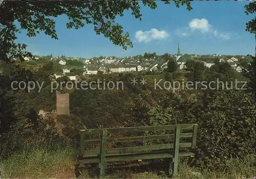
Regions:
<instances>
[{"instance_id":1,"label":"all the grass along the bottom, beside and under the bench","mask_svg":"<svg viewBox=\"0 0 256 179\"><path fill-rule=\"evenodd\" d=\"M72 146L54 151L35 149L15 154L0 161L3 178L75 178L76 151ZM115 165L114 165L115 166ZM135 167L136 168L136 167ZM139 167L138 167L139 168ZM157 166L155 167L157 168ZM134 172L129 169L115 169L106 178L166 178L163 171ZM89 170L80 170L79 178L93 178ZM253 178L256 175L255 155L244 159L230 159L223 171L200 170L181 159L175 178Z\"/></svg>"}]
</instances>

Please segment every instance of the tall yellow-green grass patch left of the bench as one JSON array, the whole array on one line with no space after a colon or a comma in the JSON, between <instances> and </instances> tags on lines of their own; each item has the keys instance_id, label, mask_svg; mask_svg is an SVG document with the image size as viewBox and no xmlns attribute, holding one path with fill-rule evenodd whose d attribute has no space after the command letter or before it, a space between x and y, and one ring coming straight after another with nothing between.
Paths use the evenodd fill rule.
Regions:
<instances>
[{"instance_id":1,"label":"tall yellow-green grass patch left of the bench","mask_svg":"<svg viewBox=\"0 0 256 179\"><path fill-rule=\"evenodd\" d=\"M55 151L35 149L15 154L0 161L3 178L48 178L55 177L63 170L74 168L75 150L72 146ZM74 169L72 169L74 171ZM71 177L74 177L74 174Z\"/></svg>"}]
</instances>

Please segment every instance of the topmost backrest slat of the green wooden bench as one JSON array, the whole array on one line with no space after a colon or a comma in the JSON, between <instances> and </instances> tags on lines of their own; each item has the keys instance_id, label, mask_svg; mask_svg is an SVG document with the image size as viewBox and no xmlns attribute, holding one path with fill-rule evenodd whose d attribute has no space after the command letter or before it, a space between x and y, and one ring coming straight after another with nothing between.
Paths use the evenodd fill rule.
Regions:
<instances>
[{"instance_id":1,"label":"topmost backrest slat of the green wooden bench","mask_svg":"<svg viewBox=\"0 0 256 179\"><path fill-rule=\"evenodd\" d=\"M194 124L179 124L180 129L193 129ZM175 130L176 125L156 125L156 126L139 126L139 127L121 127L121 128L107 128L109 133L119 132L143 132L143 131L170 131ZM84 133L99 134L103 129L86 129L80 130Z\"/></svg>"}]
</instances>

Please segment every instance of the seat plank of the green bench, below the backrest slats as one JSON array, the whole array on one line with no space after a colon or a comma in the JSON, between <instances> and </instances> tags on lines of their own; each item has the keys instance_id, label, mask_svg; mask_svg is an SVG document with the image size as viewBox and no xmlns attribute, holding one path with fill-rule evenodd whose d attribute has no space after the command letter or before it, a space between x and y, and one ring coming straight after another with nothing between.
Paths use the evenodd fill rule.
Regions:
<instances>
[{"instance_id":1,"label":"seat plank of the green bench, below the backrest slats","mask_svg":"<svg viewBox=\"0 0 256 179\"><path fill-rule=\"evenodd\" d=\"M131 157L129 157L131 156ZM179 157L194 156L191 152L180 152ZM121 162L121 161L137 161L137 160L150 160L150 159L164 159L173 158L174 156L168 152L148 152L148 153L132 153L120 155L106 155L106 162ZM99 163L98 156L86 157L79 160L79 163Z\"/></svg>"}]
</instances>

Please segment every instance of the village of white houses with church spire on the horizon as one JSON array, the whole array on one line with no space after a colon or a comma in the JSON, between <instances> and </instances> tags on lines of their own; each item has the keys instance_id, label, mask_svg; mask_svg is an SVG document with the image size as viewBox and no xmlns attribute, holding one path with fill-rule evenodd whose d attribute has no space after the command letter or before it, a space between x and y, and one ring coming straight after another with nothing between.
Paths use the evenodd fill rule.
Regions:
<instances>
[{"instance_id":1,"label":"village of white houses with church spire on the horizon","mask_svg":"<svg viewBox=\"0 0 256 179\"><path fill-rule=\"evenodd\" d=\"M38 61L41 58L47 57L35 57L34 59L25 57L25 63L33 60ZM70 80L77 81L79 75L96 75L99 73L124 73L134 71L148 71L152 73L161 73L168 66L169 59L174 59L177 62L178 70L185 71L185 63L188 60L203 61L204 66L210 68L215 63L227 62L234 70L241 72L245 68L251 59L248 56L225 56L219 54L212 55L197 55L197 54L181 54L180 45L178 44L178 50L176 55L164 54L157 56L155 53L145 53L144 56L129 56L124 58L117 57L94 57L94 58L67 58L67 57L48 57L49 61L57 62L62 71L56 71L54 73L55 79L61 76L68 76ZM16 60L16 59L13 59ZM79 65L68 65L67 61L79 62ZM72 70L73 69L73 70ZM81 74L74 72L74 69L79 69Z\"/></svg>"}]
</instances>

